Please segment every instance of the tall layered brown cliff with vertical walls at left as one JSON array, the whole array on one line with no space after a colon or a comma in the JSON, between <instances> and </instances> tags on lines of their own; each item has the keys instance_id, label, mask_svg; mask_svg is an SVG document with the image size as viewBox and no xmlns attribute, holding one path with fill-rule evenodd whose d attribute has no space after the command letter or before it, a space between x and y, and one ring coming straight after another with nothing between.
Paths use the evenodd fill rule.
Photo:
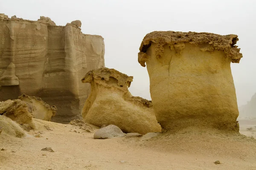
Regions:
<instances>
[{"instance_id":1,"label":"tall layered brown cliff with vertical walls at left","mask_svg":"<svg viewBox=\"0 0 256 170\"><path fill-rule=\"evenodd\" d=\"M103 38L82 34L80 26L79 20L56 26L48 17L0 14L0 101L39 96L58 108L52 121L78 119L90 93L81 77L105 66Z\"/></svg>"}]
</instances>

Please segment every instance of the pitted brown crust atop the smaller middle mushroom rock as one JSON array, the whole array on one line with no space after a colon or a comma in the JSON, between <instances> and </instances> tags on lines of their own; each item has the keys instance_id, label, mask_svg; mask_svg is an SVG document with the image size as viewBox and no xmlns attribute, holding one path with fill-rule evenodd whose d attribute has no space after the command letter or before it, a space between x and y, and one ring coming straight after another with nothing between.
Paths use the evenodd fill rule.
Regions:
<instances>
[{"instance_id":1,"label":"pitted brown crust atop the smaller middle mushroom rock","mask_svg":"<svg viewBox=\"0 0 256 170\"><path fill-rule=\"evenodd\" d=\"M92 81L102 84L102 82L110 82L110 80L116 81L120 88L127 89L130 87L133 80L132 76L127 76L119 71L111 68L99 68L97 70L91 70L85 74L84 78L81 80L83 83Z\"/></svg>"}]
</instances>

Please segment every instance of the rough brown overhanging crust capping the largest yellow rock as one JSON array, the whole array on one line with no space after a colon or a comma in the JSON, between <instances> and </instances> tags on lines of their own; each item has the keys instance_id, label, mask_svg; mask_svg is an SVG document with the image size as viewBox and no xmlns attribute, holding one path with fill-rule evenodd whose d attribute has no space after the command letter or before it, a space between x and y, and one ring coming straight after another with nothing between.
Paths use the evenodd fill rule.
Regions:
<instances>
[{"instance_id":1,"label":"rough brown overhanging crust capping the largest yellow rock","mask_svg":"<svg viewBox=\"0 0 256 170\"><path fill-rule=\"evenodd\" d=\"M237 48L236 42L238 41L238 36L234 34L229 35L219 35L207 32L175 32L175 31L153 31L148 33L141 42L140 52L138 54L138 61L140 65L145 67L145 53L150 47L151 43L156 44L156 57L160 59L163 56L163 45L177 45L184 42L189 42L191 44L204 44L208 43L212 47L206 49L205 51L222 50L227 57L232 59L232 62L239 63L242 54L239 52L240 48Z\"/></svg>"}]
</instances>

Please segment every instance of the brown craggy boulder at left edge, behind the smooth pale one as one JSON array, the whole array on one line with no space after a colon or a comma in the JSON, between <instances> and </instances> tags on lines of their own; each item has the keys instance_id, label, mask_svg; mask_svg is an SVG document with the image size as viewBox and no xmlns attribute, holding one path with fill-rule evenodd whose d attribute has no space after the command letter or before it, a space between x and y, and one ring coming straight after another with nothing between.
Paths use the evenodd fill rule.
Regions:
<instances>
[{"instance_id":1,"label":"brown craggy boulder at left edge, behind the smooth pale one","mask_svg":"<svg viewBox=\"0 0 256 170\"><path fill-rule=\"evenodd\" d=\"M33 106L20 99L0 102L0 115L7 116L20 125L28 124L32 128L35 127L32 119Z\"/></svg>"}]
</instances>

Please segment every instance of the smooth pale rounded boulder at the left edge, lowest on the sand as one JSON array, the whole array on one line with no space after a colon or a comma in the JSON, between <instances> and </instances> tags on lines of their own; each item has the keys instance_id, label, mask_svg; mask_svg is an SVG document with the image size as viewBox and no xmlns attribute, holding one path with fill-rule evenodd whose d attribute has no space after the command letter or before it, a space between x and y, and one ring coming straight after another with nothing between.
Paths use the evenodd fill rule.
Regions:
<instances>
[{"instance_id":1,"label":"smooth pale rounded boulder at the left edge, lowest on the sand","mask_svg":"<svg viewBox=\"0 0 256 170\"><path fill-rule=\"evenodd\" d=\"M26 134L16 122L12 121L12 119L6 116L0 115L0 125L3 127L2 134L5 133L19 138L25 136Z\"/></svg>"}]
</instances>

